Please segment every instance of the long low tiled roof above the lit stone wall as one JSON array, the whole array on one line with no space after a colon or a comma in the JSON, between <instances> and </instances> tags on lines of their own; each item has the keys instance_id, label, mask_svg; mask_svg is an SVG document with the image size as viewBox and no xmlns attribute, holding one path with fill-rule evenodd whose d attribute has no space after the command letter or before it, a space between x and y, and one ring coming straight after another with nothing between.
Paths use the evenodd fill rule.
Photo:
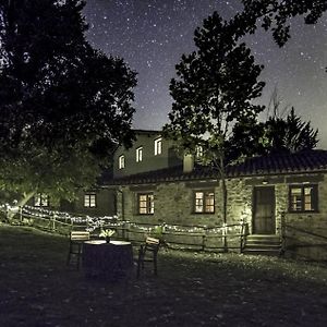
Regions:
<instances>
[{"instance_id":1,"label":"long low tiled roof above the lit stone wall","mask_svg":"<svg viewBox=\"0 0 327 327\"><path fill-rule=\"evenodd\" d=\"M296 172L327 171L327 150L311 150L298 154L267 155L246 159L242 164L227 167L228 178L286 174ZM217 170L196 166L190 173L183 173L183 167L159 169L108 181L109 184L144 184L169 181L190 181L217 179Z\"/></svg>"}]
</instances>

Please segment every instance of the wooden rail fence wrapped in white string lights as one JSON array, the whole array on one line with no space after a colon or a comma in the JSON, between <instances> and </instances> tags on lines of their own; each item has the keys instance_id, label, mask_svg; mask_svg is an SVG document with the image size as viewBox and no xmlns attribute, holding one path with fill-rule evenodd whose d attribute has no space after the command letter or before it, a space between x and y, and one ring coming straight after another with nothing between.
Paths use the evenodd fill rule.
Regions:
<instances>
[{"instance_id":1,"label":"wooden rail fence wrapped in white string lights","mask_svg":"<svg viewBox=\"0 0 327 327\"><path fill-rule=\"evenodd\" d=\"M3 213L7 213L3 210ZM114 237L141 243L145 235L156 235L171 249L202 251L229 250L242 252L246 232L245 223L216 227L162 223L140 223L119 220L118 217L73 216L31 206L16 208L16 223L32 226L50 232L69 234L72 230L88 230L98 238L101 229L113 229Z\"/></svg>"}]
</instances>

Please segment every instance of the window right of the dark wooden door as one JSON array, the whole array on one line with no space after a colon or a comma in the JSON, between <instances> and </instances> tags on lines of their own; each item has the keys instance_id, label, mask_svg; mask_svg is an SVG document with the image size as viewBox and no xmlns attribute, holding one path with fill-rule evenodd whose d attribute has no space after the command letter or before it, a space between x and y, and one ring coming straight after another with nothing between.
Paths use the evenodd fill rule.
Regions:
<instances>
[{"instance_id":1,"label":"window right of the dark wooden door","mask_svg":"<svg viewBox=\"0 0 327 327\"><path fill-rule=\"evenodd\" d=\"M291 185L290 211L317 211L317 185Z\"/></svg>"}]
</instances>

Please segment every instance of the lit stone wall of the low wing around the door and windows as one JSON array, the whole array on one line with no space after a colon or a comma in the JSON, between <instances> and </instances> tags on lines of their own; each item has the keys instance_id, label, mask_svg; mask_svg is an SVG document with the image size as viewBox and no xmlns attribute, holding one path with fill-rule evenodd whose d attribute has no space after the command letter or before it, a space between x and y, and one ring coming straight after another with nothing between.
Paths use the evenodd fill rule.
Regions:
<instances>
[{"instance_id":1,"label":"lit stone wall of the low wing around the door and windows","mask_svg":"<svg viewBox=\"0 0 327 327\"><path fill-rule=\"evenodd\" d=\"M318 213L288 213L289 185L302 184L305 181L318 184ZM287 229L289 253L312 259L327 258L327 251L324 250L324 239L315 237L322 235L327 238L327 202L324 201L327 199L327 179L322 174L246 177L227 180L227 223L239 225L241 220L246 221L249 231L252 233L253 190L256 186L264 187L266 185L275 189L276 234L281 235L284 216L287 225L312 233L305 234L301 231ZM215 214L194 214L193 192L206 189L215 192ZM137 193L143 192L154 193L154 215L137 214ZM135 223L160 225L166 222L169 225L206 226L211 228L222 226L222 192L218 181L172 181L147 185L125 185L120 187L117 205L119 216ZM218 233L217 238L215 235L204 235L204 238L208 246L215 247L222 244L222 238ZM179 240L182 239L183 237L180 235ZM184 239L185 243L190 243L192 239L198 245L202 235L197 238L189 235ZM234 238L230 237L228 245L237 249L239 243L240 238L235 235Z\"/></svg>"}]
</instances>

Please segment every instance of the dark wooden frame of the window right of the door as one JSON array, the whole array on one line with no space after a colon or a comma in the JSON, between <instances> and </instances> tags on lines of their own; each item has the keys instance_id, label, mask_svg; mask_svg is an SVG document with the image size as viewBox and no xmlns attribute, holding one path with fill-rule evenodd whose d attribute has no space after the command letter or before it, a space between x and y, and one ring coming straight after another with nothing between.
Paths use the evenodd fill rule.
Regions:
<instances>
[{"instance_id":1,"label":"dark wooden frame of the window right of the door","mask_svg":"<svg viewBox=\"0 0 327 327\"><path fill-rule=\"evenodd\" d=\"M293 208L293 199L292 199L292 190L300 189L300 204L301 209ZM305 209L305 189L312 189L312 193L310 194L310 205L312 209ZM318 213L318 185L317 184L292 184L289 185L289 213L299 214L299 213Z\"/></svg>"}]
</instances>

